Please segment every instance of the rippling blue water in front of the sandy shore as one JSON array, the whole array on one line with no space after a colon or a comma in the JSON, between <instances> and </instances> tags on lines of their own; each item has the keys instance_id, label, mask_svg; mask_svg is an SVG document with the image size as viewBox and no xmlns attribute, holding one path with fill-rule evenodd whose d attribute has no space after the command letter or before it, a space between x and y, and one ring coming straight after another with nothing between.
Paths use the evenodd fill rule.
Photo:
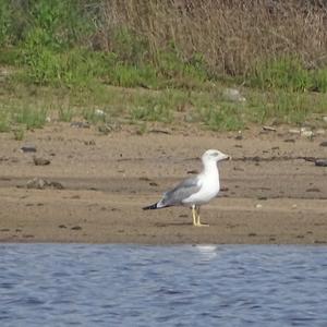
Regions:
<instances>
[{"instance_id":1,"label":"rippling blue water in front of the sandy shore","mask_svg":"<svg viewBox=\"0 0 327 327\"><path fill-rule=\"evenodd\" d=\"M0 326L327 326L327 247L0 245Z\"/></svg>"}]
</instances>

